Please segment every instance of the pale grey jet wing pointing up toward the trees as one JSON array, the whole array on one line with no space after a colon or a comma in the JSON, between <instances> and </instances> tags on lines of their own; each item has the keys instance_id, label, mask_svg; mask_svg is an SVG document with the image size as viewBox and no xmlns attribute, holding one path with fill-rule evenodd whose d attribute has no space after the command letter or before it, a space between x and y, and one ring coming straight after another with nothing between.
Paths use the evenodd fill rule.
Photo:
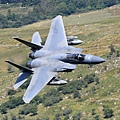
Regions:
<instances>
[{"instance_id":1,"label":"pale grey jet wing pointing up toward the trees","mask_svg":"<svg viewBox=\"0 0 120 120\"><path fill-rule=\"evenodd\" d=\"M58 15L52 20L50 31L44 46L49 51L68 46L62 16Z\"/></svg>"}]
</instances>

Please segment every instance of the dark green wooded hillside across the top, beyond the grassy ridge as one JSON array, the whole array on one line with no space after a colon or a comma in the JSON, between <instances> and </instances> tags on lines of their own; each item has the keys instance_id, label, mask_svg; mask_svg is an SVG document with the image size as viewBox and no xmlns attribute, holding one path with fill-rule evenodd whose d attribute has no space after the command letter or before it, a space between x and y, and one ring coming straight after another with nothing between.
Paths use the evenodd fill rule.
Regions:
<instances>
[{"instance_id":1,"label":"dark green wooded hillside across the top, beyond the grassy ridge","mask_svg":"<svg viewBox=\"0 0 120 120\"><path fill-rule=\"evenodd\" d=\"M0 0L0 28L18 28L57 15L68 16L117 4L119 0Z\"/></svg>"}]
</instances>

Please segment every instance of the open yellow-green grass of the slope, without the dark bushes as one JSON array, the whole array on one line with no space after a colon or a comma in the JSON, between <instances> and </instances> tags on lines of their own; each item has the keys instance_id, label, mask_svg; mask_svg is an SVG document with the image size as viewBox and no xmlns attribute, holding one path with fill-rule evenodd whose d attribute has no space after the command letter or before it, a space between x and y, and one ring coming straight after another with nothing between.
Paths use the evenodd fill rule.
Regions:
<instances>
[{"instance_id":1,"label":"open yellow-green grass of the slope, without the dark bushes","mask_svg":"<svg viewBox=\"0 0 120 120\"><path fill-rule=\"evenodd\" d=\"M64 17L63 20L67 35L78 35L79 38L84 41L82 45L77 46L83 48L84 53L106 56L109 53L108 46L111 44L113 44L116 49L120 49L120 17L119 15L113 16L112 13L109 12L108 8L80 15L71 15ZM6 96L6 90L12 87L19 72L15 69L16 71L14 73L8 74L8 65L4 63L4 61L6 59L11 59L19 64L22 64L25 61L24 58L27 58L26 53L29 52L29 48L21 45L11 38L13 36L19 36L30 41L31 35L35 31L39 31L42 39L45 40L48 34L50 22L51 20L46 20L16 29L0 29L0 51L2 51L0 54L0 103L3 103L8 99L8 96ZM118 62L115 65L114 61L116 59ZM107 71L104 70L104 66L108 67ZM82 98L85 99L83 102L78 102L77 100L68 98L52 107L45 108L40 104L38 107L38 115L32 117L27 115L25 118L33 120L38 117L42 119L49 117L53 119L56 113L62 112L62 108L64 107L72 108L73 112L70 114L71 116L82 112L83 119L93 119L91 111L95 108L96 114L99 115L100 119L103 119L102 105L108 105L114 110L114 116L112 119L119 119L119 69L119 58L113 58L112 60L107 60L104 64L96 65L89 69L87 65L78 65L72 75L71 73L59 74L59 76L63 79L67 78L69 80L75 80L78 79L77 77L80 74L85 76L87 73L94 73L97 71L97 76L100 78L100 84L96 86L97 89L95 93L88 92L92 89L94 84L81 91ZM43 94L51 88L53 87L45 87L40 94ZM23 93L23 91L21 93L17 93L16 96L23 95ZM12 111L9 110L8 116L10 117L13 112L17 115L20 107L13 109Z\"/></svg>"}]
</instances>

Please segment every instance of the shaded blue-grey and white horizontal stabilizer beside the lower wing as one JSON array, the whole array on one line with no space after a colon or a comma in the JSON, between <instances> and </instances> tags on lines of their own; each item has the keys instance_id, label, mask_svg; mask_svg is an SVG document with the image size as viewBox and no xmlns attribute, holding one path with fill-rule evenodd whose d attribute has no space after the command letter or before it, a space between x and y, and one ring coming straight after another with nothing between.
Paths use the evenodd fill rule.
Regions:
<instances>
[{"instance_id":1,"label":"shaded blue-grey and white horizontal stabilizer beside the lower wing","mask_svg":"<svg viewBox=\"0 0 120 120\"><path fill-rule=\"evenodd\" d=\"M28 80L28 77L31 75L29 72L21 72L18 79L16 80L14 84L14 89L17 89L20 87L25 81Z\"/></svg>"}]
</instances>

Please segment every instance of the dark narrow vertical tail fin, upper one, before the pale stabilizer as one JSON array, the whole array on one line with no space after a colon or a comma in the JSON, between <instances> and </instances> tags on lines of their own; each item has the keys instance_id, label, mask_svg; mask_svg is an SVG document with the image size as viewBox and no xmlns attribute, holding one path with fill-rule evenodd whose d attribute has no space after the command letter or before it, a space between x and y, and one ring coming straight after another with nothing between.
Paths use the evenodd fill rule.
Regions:
<instances>
[{"instance_id":1,"label":"dark narrow vertical tail fin, upper one, before the pale stabilizer","mask_svg":"<svg viewBox=\"0 0 120 120\"><path fill-rule=\"evenodd\" d=\"M40 49L42 48L42 46L40 46L40 45L37 45L37 44L31 43L31 42L22 40L22 39L20 39L20 38L18 38L18 37L13 37L13 39L15 39L15 40L17 40L17 41L19 41L19 42L27 45L28 47L31 47L31 49L32 49L33 51L35 51L35 50L40 50Z\"/></svg>"}]
</instances>

